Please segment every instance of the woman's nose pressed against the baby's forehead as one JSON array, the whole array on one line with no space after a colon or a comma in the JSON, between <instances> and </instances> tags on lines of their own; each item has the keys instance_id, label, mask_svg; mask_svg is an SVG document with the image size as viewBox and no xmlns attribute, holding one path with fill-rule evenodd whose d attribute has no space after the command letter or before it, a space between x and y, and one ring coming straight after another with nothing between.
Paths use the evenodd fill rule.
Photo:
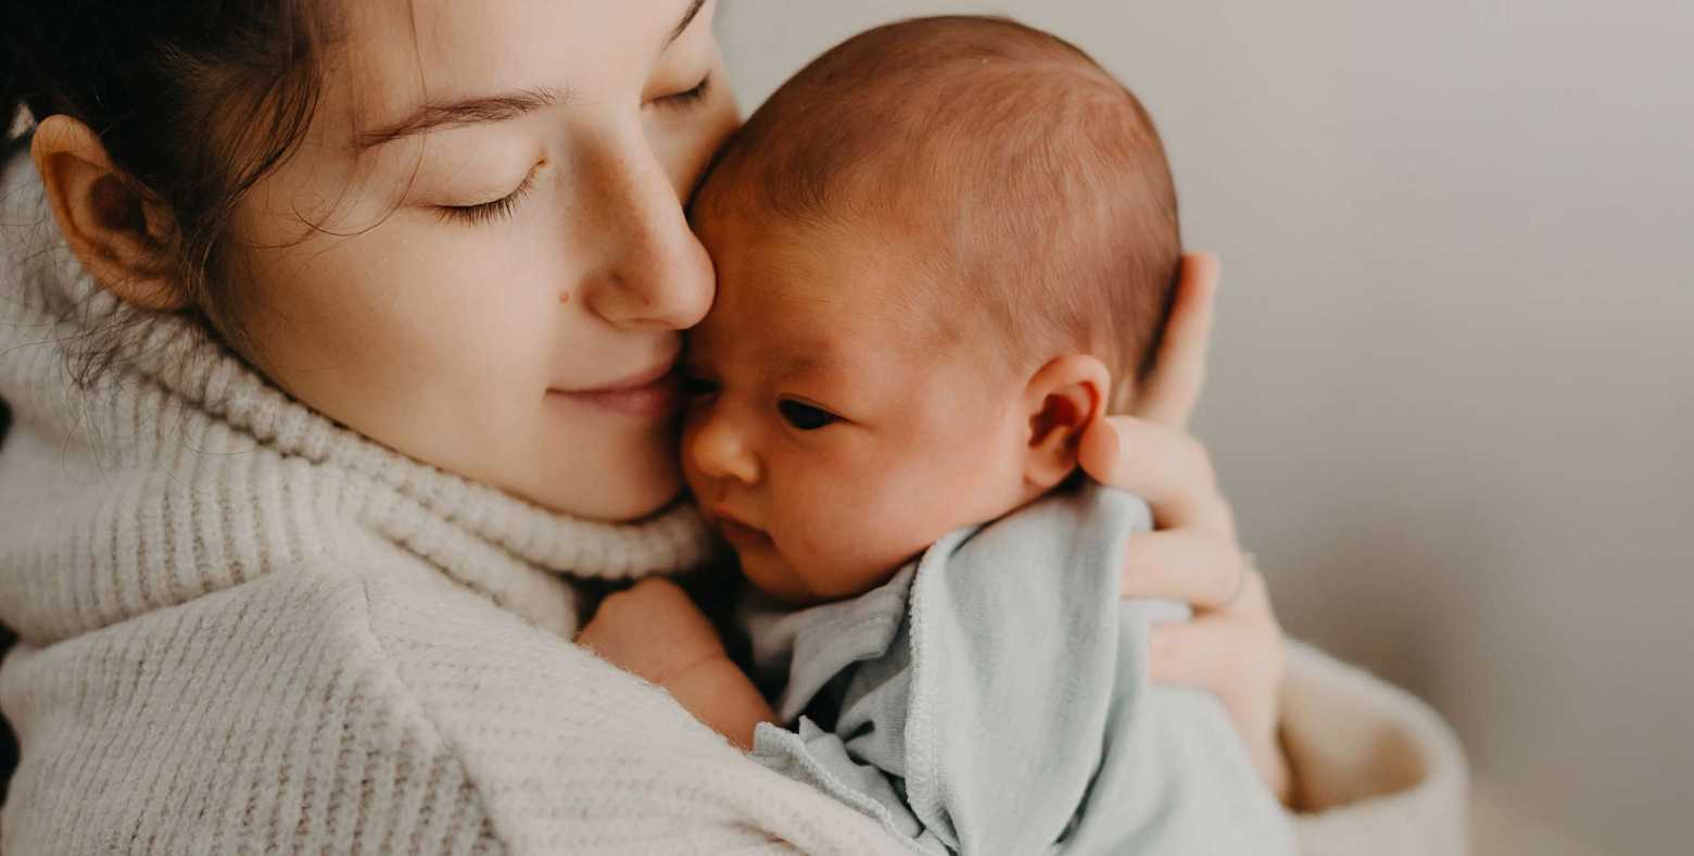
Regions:
<instances>
[{"instance_id":1,"label":"woman's nose pressed against the baby's forehead","mask_svg":"<svg viewBox=\"0 0 1694 856\"><path fill-rule=\"evenodd\" d=\"M711 308L711 258L688 227L683 198L645 139L591 164L600 266L588 307L618 327L688 329ZM630 154L635 149L635 154Z\"/></svg>"}]
</instances>

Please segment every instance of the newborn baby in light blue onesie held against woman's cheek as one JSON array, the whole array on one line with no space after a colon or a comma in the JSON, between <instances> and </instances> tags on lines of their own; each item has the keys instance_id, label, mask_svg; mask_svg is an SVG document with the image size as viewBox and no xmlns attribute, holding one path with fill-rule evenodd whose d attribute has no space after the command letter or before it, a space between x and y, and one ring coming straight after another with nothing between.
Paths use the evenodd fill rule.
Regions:
<instances>
[{"instance_id":1,"label":"newborn baby in light blue onesie held against woman's cheek","mask_svg":"<svg viewBox=\"0 0 1694 856\"><path fill-rule=\"evenodd\" d=\"M920 851L1293 853L1223 707L1147 680L1184 617L1118 600L1147 507L1076 478L1181 256L1135 97L1008 20L881 27L747 122L693 217L684 471L774 709L727 714L739 673L679 700Z\"/></svg>"}]
</instances>

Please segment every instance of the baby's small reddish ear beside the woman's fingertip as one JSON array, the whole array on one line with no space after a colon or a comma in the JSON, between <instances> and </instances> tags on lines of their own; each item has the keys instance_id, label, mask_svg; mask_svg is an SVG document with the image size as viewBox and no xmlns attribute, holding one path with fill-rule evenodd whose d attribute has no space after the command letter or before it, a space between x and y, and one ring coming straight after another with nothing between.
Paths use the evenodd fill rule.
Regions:
<instances>
[{"instance_id":1,"label":"baby's small reddish ear beside the woman's fingertip","mask_svg":"<svg viewBox=\"0 0 1694 856\"><path fill-rule=\"evenodd\" d=\"M1023 480L1050 490L1076 470L1082 429L1106 415L1111 373L1098 358L1066 354L1042 366L1025 386L1030 439Z\"/></svg>"}]
</instances>

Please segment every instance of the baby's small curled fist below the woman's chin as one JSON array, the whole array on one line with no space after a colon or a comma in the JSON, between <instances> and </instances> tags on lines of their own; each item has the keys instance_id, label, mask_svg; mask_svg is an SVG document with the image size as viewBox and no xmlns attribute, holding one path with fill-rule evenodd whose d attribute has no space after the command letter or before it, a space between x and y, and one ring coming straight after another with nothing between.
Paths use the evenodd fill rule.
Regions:
<instances>
[{"instance_id":1,"label":"baby's small curled fist below the woman's chin","mask_svg":"<svg viewBox=\"0 0 1694 856\"><path fill-rule=\"evenodd\" d=\"M700 607L679 585L661 576L606 597L576 642L659 686L701 663L728 659Z\"/></svg>"}]
</instances>

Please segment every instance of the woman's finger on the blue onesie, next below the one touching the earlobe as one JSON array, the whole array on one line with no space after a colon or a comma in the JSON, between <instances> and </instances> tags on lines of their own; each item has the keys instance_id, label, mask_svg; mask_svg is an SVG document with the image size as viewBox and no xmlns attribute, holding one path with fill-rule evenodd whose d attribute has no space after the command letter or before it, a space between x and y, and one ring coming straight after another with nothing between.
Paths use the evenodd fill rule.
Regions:
<instances>
[{"instance_id":1,"label":"woman's finger on the blue onesie, next below the one touching the earlobe","mask_svg":"<svg viewBox=\"0 0 1694 856\"><path fill-rule=\"evenodd\" d=\"M1196 610L1243 595L1247 559L1228 541L1194 529L1130 536L1123 554L1123 597L1181 600Z\"/></svg>"}]
</instances>

